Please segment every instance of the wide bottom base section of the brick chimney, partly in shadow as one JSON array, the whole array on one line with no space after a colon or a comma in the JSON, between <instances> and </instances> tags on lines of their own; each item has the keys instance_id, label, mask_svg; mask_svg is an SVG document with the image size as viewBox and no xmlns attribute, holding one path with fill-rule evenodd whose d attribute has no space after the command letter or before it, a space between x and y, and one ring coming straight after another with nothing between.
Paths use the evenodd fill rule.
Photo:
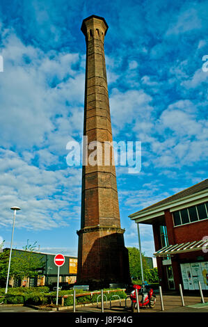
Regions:
<instances>
[{"instance_id":1,"label":"wide bottom base section of the brick chimney, partly in shadow","mask_svg":"<svg viewBox=\"0 0 208 327\"><path fill-rule=\"evenodd\" d=\"M77 282L129 282L129 257L123 234L96 230L79 234Z\"/></svg>"}]
</instances>

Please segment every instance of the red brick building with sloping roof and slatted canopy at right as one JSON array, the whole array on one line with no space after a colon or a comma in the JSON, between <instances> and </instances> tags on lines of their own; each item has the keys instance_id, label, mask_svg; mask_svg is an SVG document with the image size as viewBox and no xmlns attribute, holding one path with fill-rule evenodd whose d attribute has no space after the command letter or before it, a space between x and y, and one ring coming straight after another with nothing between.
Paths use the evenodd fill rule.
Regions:
<instances>
[{"instance_id":1,"label":"red brick building with sloping roof and slatted canopy at right","mask_svg":"<svg viewBox=\"0 0 208 327\"><path fill-rule=\"evenodd\" d=\"M152 225L163 289L208 291L208 180L129 215Z\"/></svg>"}]
</instances>

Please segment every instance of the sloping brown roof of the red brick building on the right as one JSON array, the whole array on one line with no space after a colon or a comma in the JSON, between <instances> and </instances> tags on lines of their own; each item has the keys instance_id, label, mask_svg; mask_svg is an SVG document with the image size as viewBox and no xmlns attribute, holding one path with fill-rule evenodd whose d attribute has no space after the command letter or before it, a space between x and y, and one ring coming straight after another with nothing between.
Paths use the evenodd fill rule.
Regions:
<instances>
[{"instance_id":1,"label":"sloping brown roof of the red brick building on the right","mask_svg":"<svg viewBox=\"0 0 208 327\"><path fill-rule=\"evenodd\" d=\"M129 217L133 217L136 214L142 214L145 212L151 212L152 210L156 209L157 207L160 207L162 205L166 205L169 202L173 202L175 200L180 200L182 198L186 198L186 196L192 196L195 193L198 193L200 191L204 191L208 189L208 179L207 180L203 180L202 182L195 184L191 187L188 187L188 189L184 189L183 191L180 191L178 193L175 193L173 196L169 196L166 199L163 199L157 203L154 203L154 205L150 205L149 207L146 207L145 209L142 209L138 212L135 212L134 214L130 214Z\"/></svg>"}]
</instances>

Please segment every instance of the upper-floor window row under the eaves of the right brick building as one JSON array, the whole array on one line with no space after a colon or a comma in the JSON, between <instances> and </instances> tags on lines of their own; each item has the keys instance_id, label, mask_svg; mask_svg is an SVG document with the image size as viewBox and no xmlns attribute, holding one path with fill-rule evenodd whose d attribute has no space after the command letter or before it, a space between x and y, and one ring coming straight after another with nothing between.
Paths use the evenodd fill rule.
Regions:
<instances>
[{"instance_id":1,"label":"upper-floor window row under the eaves of the right brick building","mask_svg":"<svg viewBox=\"0 0 208 327\"><path fill-rule=\"evenodd\" d=\"M184 225L186 223L194 223L208 218L208 202L193 205L192 207L177 210L173 212L173 221L175 226Z\"/></svg>"}]
</instances>

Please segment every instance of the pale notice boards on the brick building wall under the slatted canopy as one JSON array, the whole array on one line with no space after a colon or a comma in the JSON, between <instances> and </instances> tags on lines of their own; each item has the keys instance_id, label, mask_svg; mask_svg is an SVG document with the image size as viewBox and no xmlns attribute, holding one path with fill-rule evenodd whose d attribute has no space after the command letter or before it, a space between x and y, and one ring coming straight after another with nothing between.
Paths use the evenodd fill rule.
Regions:
<instances>
[{"instance_id":1,"label":"pale notice boards on the brick building wall under the slatted canopy","mask_svg":"<svg viewBox=\"0 0 208 327\"><path fill-rule=\"evenodd\" d=\"M200 281L202 289L208 290L208 262L192 262L180 266L184 289L199 289Z\"/></svg>"}]
</instances>

